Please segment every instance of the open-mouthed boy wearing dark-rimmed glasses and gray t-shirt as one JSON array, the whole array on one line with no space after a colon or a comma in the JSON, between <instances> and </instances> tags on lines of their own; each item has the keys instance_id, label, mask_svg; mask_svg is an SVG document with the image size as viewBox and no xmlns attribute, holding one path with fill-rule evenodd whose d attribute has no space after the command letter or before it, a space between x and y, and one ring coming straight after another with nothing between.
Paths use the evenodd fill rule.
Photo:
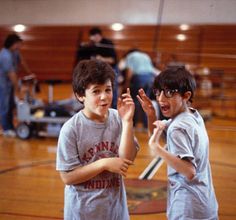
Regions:
<instances>
[{"instance_id":1,"label":"open-mouthed boy wearing dark-rimmed glasses and gray t-shirt","mask_svg":"<svg viewBox=\"0 0 236 220\"><path fill-rule=\"evenodd\" d=\"M156 100L168 123L154 122L154 108L143 90L138 99L148 116L149 147L168 165L167 217L174 219L218 219L218 204L209 163L209 140L204 121L190 108L196 83L184 68L161 72L154 82ZM167 150L159 142L167 130Z\"/></svg>"}]
</instances>

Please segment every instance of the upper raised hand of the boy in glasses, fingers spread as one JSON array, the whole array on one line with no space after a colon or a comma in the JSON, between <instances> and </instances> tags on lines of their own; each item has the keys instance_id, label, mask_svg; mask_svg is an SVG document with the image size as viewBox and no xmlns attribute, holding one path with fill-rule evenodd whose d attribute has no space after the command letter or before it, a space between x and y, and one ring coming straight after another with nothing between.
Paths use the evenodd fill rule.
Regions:
<instances>
[{"instance_id":1,"label":"upper raised hand of the boy in glasses, fingers spread","mask_svg":"<svg viewBox=\"0 0 236 220\"><path fill-rule=\"evenodd\" d=\"M155 117L156 112L153 107L151 99L147 97L143 89L139 89L139 95L137 95L137 99L139 100L143 111L147 114L148 117Z\"/></svg>"}]
</instances>

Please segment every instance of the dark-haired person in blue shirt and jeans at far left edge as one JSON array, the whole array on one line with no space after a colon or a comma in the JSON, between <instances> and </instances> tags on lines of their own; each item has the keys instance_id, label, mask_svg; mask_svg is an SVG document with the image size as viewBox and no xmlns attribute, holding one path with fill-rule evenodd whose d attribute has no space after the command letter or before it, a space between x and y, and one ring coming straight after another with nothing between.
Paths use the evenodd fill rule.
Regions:
<instances>
[{"instance_id":1,"label":"dark-haired person in blue shirt and jeans at far left edge","mask_svg":"<svg viewBox=\"0 0 236 220\"><path fill-rule=\"evenodd\" d=\"M9 34L0 51L0 121L4 136L15 136L13 110L15 92L18 91L17 70L21 64L25 72L32 74L26 65L20 49L22 39L17 34Z\"/></svg>"}]
</instances>

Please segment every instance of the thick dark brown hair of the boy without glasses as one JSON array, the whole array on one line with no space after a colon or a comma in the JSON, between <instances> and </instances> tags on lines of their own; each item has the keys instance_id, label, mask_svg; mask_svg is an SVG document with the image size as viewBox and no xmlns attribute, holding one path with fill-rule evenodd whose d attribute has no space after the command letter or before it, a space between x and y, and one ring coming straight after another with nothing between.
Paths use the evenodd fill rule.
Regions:
<instances>
[{"instance_id":1,"label":"thick dark brown hair of the boy without glasses","mask_svg":"<svg viewBox=\"0 0 236 220\"><path fill-rule=\"evenodd\" d=\"M104 84L111 80L114 84L115 73L112 67L99 60L82 60L74 69L72 87L75 94L85 95L85 89L89 84Z\"/></svg>"}]
</instances>

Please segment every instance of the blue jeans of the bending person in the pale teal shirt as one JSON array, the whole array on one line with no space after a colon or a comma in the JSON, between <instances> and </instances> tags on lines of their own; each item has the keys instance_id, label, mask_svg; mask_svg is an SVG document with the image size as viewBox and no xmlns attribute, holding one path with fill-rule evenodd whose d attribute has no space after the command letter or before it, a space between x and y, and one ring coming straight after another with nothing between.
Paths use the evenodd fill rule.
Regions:
<instances>
[{"instance_id":1,"label":"blue jeans of the bending person in the pale teal shirt","mask_svg":"<svg viewBox=\"0 0 236 220\"><path fill-rule=\"evenodd\" d=\"M143 89L148 97L151 96L154 82L154 75L152 73L144 73L142 75L134 74L131 79L130 92L135 104L134 125L137 122L142 122L143 126L147 128L147 116L140 105L137 95L138 90Z\"/></svg>"}]
</instances>

